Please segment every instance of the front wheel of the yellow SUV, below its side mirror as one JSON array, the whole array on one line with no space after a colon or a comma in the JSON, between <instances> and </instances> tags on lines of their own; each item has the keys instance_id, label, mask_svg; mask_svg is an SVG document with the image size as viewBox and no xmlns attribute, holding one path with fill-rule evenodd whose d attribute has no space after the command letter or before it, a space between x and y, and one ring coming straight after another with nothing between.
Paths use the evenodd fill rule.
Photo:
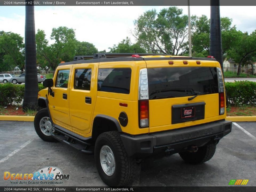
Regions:
<instances>
[{"instance_id":1,"label":"front wheel of the yellow SUV, below its side mirror","mask_svg":"<svg viewBox=\"0 0 256 192\"><path fill-rule=\"evenodd\" d=\"M34 119L35 131L43 141L56 142L57 140L51 136L53 127L49 116L46 108L37 112Z\"/></svg>"}]
</instances>

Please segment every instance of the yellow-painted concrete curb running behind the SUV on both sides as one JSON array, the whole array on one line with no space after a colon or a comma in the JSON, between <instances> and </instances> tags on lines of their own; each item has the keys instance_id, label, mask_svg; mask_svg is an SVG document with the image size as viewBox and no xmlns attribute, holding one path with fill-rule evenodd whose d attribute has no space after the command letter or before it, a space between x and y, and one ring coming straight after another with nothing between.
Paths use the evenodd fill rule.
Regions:
<instances>
[{"instance_id":1,"label":"yellow-painted concrete curb running behind the SUV on both sides","mask_svg":"<svg viewBox=\"0 0 256 192\"><path fill-rule=\"evenodd\" d=\"M34 121L34 116L15 116L15 115L0 115L0 121ZM256 121L256 116L227 116L226 120L240 121Z\"/></svg>"}]
</instances>

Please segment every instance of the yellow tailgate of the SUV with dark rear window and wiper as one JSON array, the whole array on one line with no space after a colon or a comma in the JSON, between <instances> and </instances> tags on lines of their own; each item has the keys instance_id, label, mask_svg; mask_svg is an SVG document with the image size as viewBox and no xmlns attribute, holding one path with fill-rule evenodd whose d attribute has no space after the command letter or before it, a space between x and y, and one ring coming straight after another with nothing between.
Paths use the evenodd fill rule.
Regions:
<instances>
[{"instance_id":1,"label":"yellow tailgate of the SUV with dark rear window and wiper","mask_svg":"<svg viewBox=\"0 0 256 192\"><path fill-rule=\"evenodd\" d=\"M147 61L147 75L149 132L219 119L219 83L215 61L197 64L191 60L186 65L183 61L174 61L173 65L168 61Z\"/></svg>"}]
</instances>

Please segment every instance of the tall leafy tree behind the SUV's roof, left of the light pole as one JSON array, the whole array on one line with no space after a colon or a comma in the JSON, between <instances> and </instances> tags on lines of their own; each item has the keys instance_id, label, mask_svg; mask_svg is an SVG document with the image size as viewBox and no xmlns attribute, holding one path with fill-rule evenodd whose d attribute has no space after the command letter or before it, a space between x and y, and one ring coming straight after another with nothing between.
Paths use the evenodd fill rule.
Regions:
<instances>
[{"instance_id":1,"label":"tall leafy tree behind the SUV's roof, left of the light pole","mask_svg":"<svg viewBox=\"0 0 256 192\"><path fill-rule=\"evenodd\" d=\"M195 26L191 17L191 31ZM134 21L134 36L150 53L182 55L188 50L188 16L182 9L169 7L158 14L155 9L146 11Z\"/></svg>"}]
</instances>

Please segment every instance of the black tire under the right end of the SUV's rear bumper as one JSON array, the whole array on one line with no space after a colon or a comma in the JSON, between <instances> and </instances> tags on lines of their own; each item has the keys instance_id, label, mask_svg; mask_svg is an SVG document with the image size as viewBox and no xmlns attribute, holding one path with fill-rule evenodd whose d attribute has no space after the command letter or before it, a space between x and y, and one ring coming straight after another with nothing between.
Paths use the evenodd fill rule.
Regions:
<instances>
[{"instance_id":1,"label":"black tire under the right end of the SUV's rear bumper","mask_svg":"<svg viewBox=\"0 0 256 192\"><path fill-rule=\"evenodd\" d=\"M204 163L206 161L209 161L216 150L216 145L215 144L209 144L209 145L205 145L202 147L198 147L197 152L194 153L190 153L190 152L181 152L179 153L179 156L181 156L181 158L190 164L199 164L199 163Z\"/></svg>"}]
</instances>

